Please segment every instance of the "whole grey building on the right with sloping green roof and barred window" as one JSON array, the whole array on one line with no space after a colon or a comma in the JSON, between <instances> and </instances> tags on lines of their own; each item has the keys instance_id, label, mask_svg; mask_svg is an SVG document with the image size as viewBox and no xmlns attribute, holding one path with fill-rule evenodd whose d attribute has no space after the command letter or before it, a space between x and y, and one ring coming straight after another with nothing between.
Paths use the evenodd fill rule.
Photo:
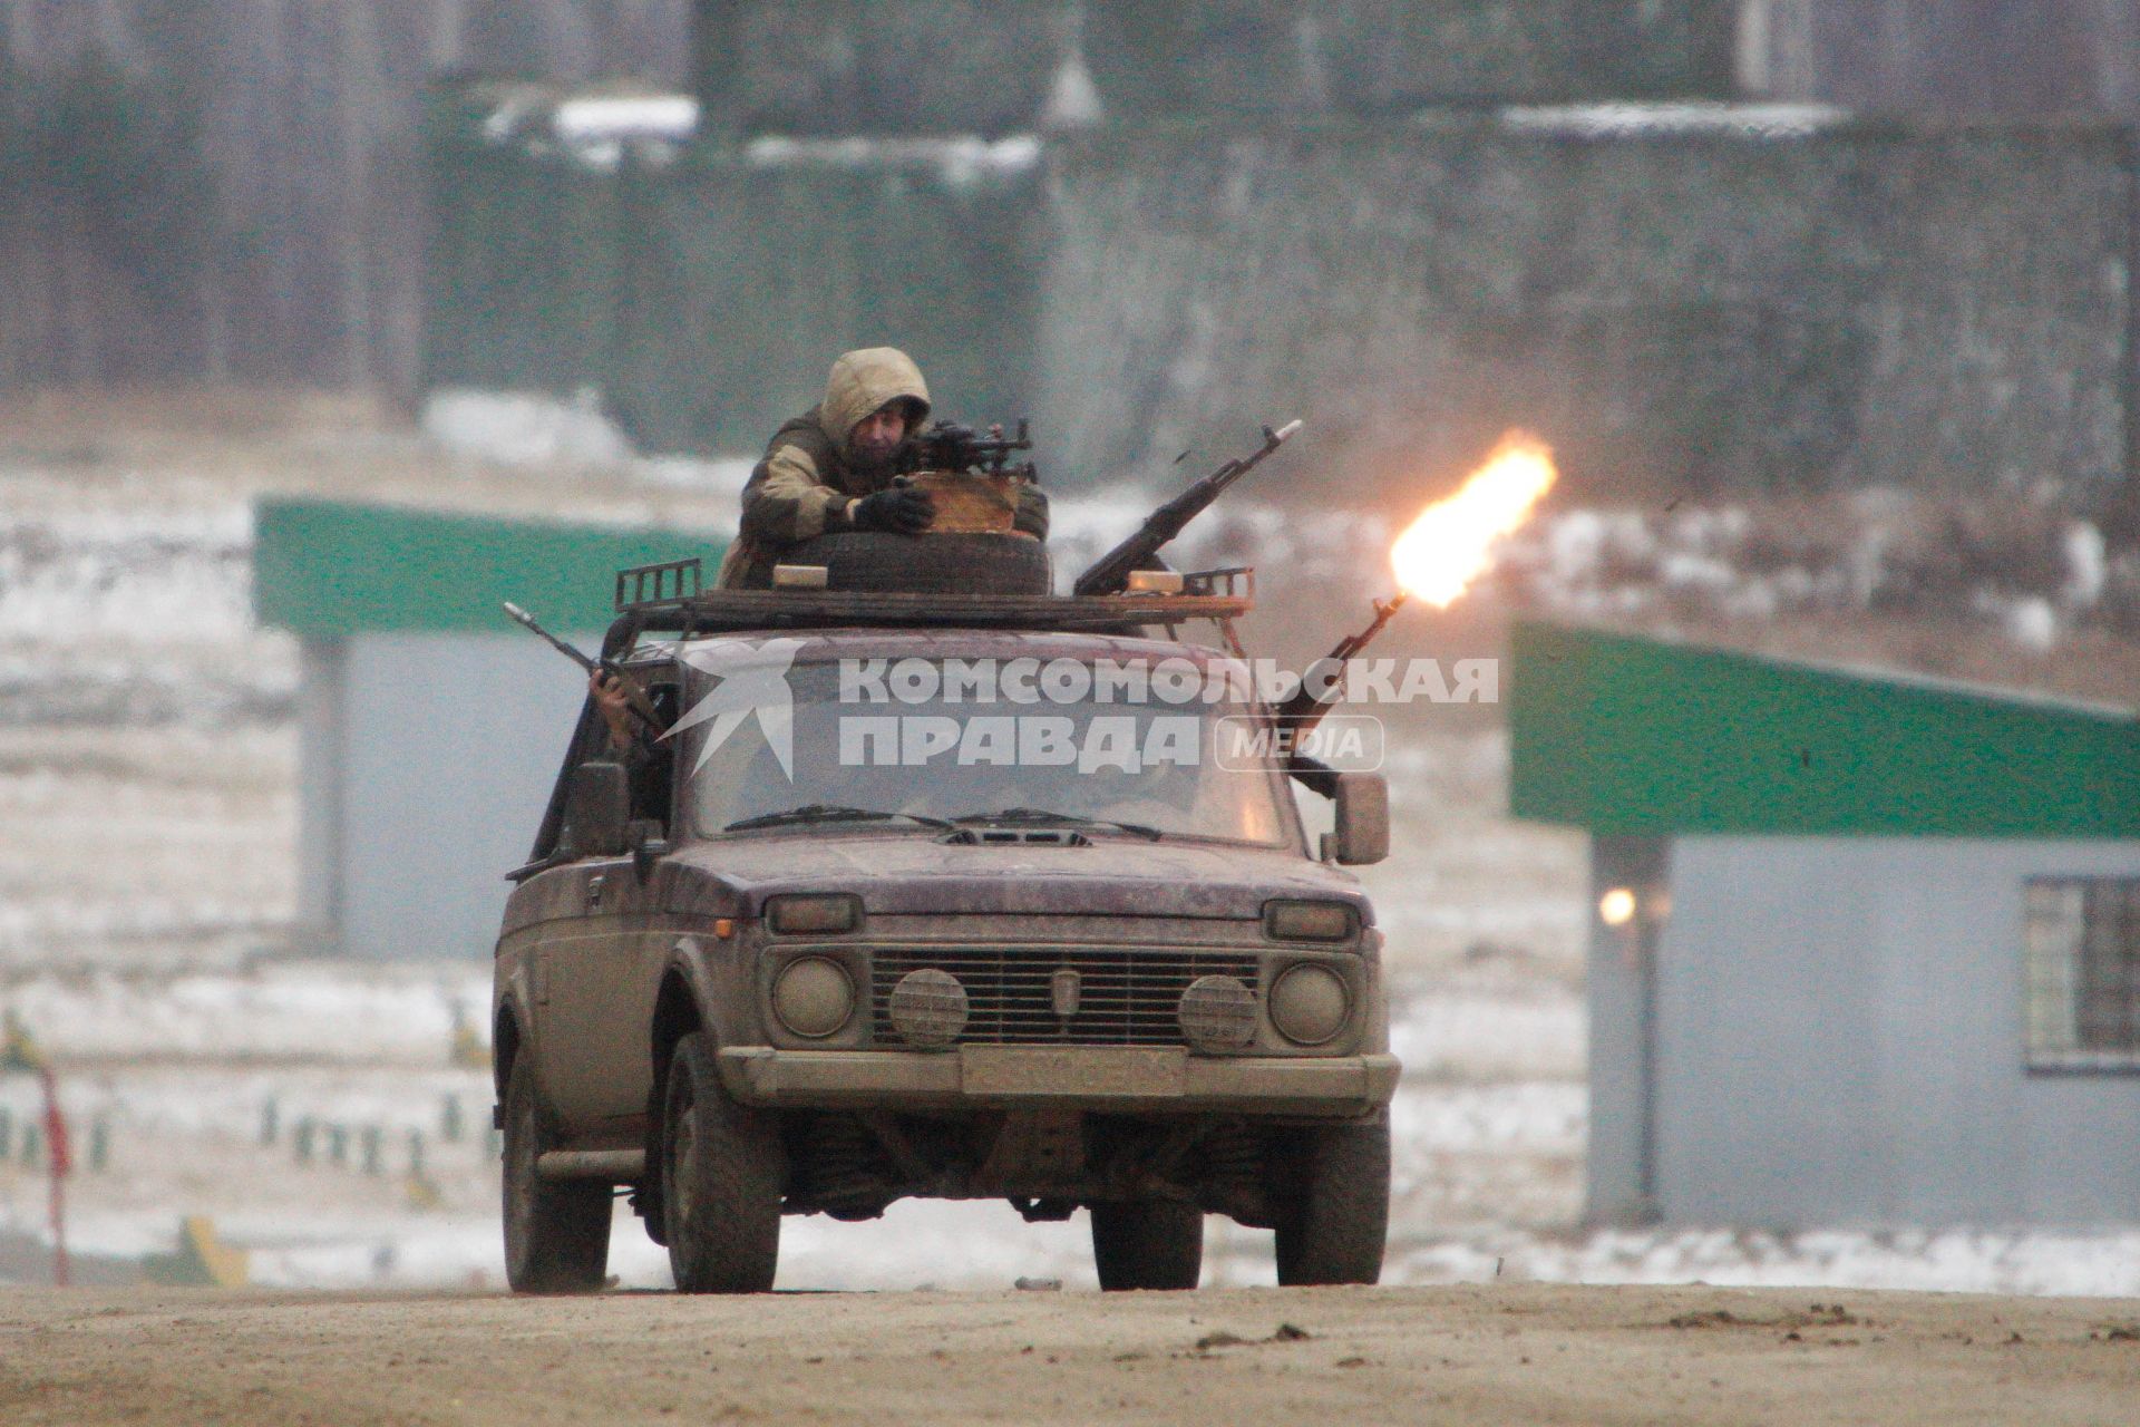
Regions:
<instances>
[{"instance_id":1,"label":"whole grey building on the right with sloping green roof and barred window","mask_svg":"<svg viewBox=\"0 0 2140 1427\"><path fill-rule=\"evenodd\" d=\"M1522 625L1511 807L1586 828L1590 1215L2140 1222L2140 723Z\"/></svg>"}]
</instances>

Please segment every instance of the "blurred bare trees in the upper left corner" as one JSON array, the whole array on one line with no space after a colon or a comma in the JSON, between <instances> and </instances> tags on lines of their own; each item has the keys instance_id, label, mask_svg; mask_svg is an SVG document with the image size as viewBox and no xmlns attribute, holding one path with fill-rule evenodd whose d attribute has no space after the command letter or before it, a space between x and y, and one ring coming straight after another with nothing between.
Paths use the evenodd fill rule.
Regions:
<instances>
[{"instance_id":1,"label":"blurred bare trees in the upper left corner","mask_svg":"<svg viewBox=\"0 0 2140 1427\"><path fill-rule=\"evenodd\" d=\"M691 0L0 0L0 387L411 398L445 73L685 79Z\"/></svg>"}]
</instances>

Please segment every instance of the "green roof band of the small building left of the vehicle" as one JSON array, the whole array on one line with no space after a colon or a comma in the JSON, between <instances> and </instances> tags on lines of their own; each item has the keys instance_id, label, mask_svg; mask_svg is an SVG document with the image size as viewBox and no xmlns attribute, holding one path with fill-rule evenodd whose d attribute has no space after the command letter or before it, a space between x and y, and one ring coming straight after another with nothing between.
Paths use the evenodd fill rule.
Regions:
<instances>
[{"instance_id":1,"label":"green roof band of the small building left of the vehicle","mask_svg":"<svg viewBox=\"0 0 2140 1427\"><path fill-rule=\"evenodd\" d=\"M511 599L554 631L603 629L616 571L700 556L719 539L332 501L255 509L253 608L263 625L310 635L372 629L494 629Z\"/></svg>"}]
</instances>

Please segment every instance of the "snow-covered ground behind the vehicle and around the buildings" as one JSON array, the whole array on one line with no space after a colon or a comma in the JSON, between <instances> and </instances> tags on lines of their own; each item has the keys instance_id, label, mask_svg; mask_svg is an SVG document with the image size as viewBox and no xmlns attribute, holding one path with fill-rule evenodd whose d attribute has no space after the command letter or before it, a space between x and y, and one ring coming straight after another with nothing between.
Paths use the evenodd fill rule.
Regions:
<instances>
[{"instance_id":1,"label":"snow-covered ground behind the vehicle and around the buildings","mask_svg":"<svg viewBox=\"0 0 2140 1427\"><path fill-rule=\"evenodd\" d=\"M270 406L148 404L122 424L34 406L0 426L0 1010L60 1059L77 1157L103 1125L105 1166L71 1181L77 1249L163 1249L180 1215L205 1213L263 1284L494 1284L490 1089L449 1059L488 969L317 963L291 946L295 648L250 620L250 501L332 492L721 528L743 466L595 460L599 432L571 413L516 426L524 449L499 449L499 411L482 402L439 417L456 445L347 402ZM1316 629L1273 631L1288 657L1361 623L1352 576L1378 567L1385 516L1228 505L1190 558L1280 571L1271 605L1318 610ZM1074 569L1143 507L1059 501L1059 563ZM2089 526L2024 511L2007 539L1980 531L1950 558L1935 511L1862 501L1828 516L1549 511L1479 605L2072 693L2134 682L2114 635L2140 576ZM1911 614L1913 590L1960 614ZM1898 601L1902 616L1879 614ZM1492 618L1421 616L1393 635L1391 653L1447 653L1492 640ZM1393 738L1400 854L1367 875L1408 1065L1391 1279L2140 1292L2140 1234L1584 1232L1584 845L1507 817L1492 710L1440 712ZM26 1262L6 1245L43 1234L45 1179L21 1134L34 1108L30 1078L0 1076L0 1277ZM1209 1247L1209 1282L1271 1279L1269 1234L1213 1222ZM627 1215L612 1264L625 1284L666 1282ZM1083 1222L1027 1226L1002 1204L790 1222L781 1273L796 1288L1014 1277L1089 1284Z\"/></svg>"}]
</instances>

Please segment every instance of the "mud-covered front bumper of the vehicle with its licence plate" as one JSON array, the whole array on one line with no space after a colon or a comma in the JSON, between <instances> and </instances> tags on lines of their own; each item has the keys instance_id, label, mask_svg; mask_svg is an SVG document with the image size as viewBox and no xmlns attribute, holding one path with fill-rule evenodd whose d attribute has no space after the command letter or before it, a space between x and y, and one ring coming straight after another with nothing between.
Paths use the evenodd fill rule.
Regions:
<instances>
[{"instance_id":1,"label":"mud-covered front bumper of the vehicle with its licence plate","mask_svg":"<svg viewBox=\"0 0 2140 1427\"><path fill-rule=\"evenodd\" d=\"M766 1108L1074 1108L1355 1117L1397 1089L1395 1055L1198 1057L1173 1046L721 1050L721 1083Z\"/></svg>"}]
</instances>

